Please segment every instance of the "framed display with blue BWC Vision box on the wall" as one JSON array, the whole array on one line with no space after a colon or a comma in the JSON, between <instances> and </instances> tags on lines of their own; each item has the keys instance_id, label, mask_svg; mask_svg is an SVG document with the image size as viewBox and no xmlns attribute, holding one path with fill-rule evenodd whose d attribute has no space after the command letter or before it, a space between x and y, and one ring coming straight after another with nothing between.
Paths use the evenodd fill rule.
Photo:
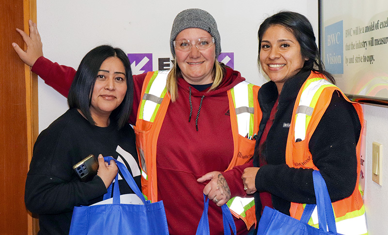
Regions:
<instances>
[{"instance_id":1,"label":"framed display with blue BWC Vision box on the wall","mask_svg":"<svg viewBox=\"0 0 388 235\"><path fill-rule=\"evenodd\" d=\"M325 68L354 101L388 105L388 1L319 0Z\"/></svg>"}]
</instances>

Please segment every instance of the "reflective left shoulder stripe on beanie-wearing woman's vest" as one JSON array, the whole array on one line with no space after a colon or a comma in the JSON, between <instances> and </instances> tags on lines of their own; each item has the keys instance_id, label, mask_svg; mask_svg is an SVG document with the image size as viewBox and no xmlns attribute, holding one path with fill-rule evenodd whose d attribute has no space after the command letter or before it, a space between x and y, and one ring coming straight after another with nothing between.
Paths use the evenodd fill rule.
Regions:
<instances>
[{"instance_id":1,"label":"reflective left shoulder stripe on beanie-wearing woman's vest","mask_svg":"<svg viewBox=\"0 0 388 235\"><path fill-rule=\"evenodd\" d=\"M146 100L143 108L143 119L146 121L151 120L156 105L162 103L163 98L161 98L161 96L164 88L166 87L166 80L169 72L169 70L159 71L149 88L149 93L146 93L143 96L143 100Z\"/></svg>"}]
</instances>

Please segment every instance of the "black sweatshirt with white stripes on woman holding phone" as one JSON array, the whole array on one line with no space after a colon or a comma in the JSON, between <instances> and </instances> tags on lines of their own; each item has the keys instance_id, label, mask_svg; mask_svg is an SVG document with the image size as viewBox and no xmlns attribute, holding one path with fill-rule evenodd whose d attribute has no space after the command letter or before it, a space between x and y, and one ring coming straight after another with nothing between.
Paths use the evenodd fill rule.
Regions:
<instances>
[{"instance_id":1,"label":"black sweatshirt with white stripes on woman holding phone","mask_svg":"<svg viewBox=\"0 0 388 235\"><path fill-rule=\"evenodd\" d=\"M112 156L138 167L135 134L127 124L120 130L111 120L108 127L91 125L76 109L69 109L42 131L34 145L27 175L25 203L39 214L39 235L68 234L74 206L91 205L107 192L99 176L81 182L72 166L89 154ZM140 176L134 177L141 188ZM133 193L127 182L119 180L121 194Z\"/></svg>"}]
</instances>

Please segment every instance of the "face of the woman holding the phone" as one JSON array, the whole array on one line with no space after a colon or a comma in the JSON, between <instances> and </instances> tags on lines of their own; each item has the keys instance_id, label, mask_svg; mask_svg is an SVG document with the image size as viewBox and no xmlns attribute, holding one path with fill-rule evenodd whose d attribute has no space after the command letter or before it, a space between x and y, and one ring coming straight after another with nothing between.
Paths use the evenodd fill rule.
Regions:
<instances>
[{"instance_id":1,"label":"face of the woman holding the phone","mask_svg":"<svg viewBox=\"0 0 388 235\"><path fill-rule=\"evenodd\" d=\"M101 126L100 120L108 120L106 118L121 104L126 92L123 62L117 57L105 59L98 70L90 104L90 113L97 126Z\"/></svg>"}]
</instances>

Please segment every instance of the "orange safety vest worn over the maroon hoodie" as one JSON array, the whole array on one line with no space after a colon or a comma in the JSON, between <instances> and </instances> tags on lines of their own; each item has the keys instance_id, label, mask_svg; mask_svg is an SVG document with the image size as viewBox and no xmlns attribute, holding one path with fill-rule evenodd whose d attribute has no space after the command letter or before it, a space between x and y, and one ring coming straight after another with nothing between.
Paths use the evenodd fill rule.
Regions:
<instances>
[{"instance_id":1,"label":"orange safety vest worn over the maroon hoodie","mask_svg":"<svg viewBox=\"0 0 388 235\"><path fill-rule=\"evenodd\" d=\"M142 102L139 105L136 125L134 126L142 172L142 191L146 198L152 202L158 200L156 168L158 136L171 101L170 95L166 95L168 92L165 87L168 73L169 71L147 73L142 88ZM234 152L232 161L226 170L230 170L236 165L242 165L253 157L255 140L247 139L244 136L246 133L253 136L259 130L261 110L258 102L258 91L258 86L247 82L241 82L227 91ZM243 99L242 96L245 96L246 99ZM236 203L238 201L239 203ZM233 202L235 203L233 204ZM238 205L242 207L242 211L239 211ZM228 206L234 216L244 220L248 229L256 222L253 198L234 197L229 200ZM236 209L233 210L233 207Z\"/></svg>"}]
</instances>

